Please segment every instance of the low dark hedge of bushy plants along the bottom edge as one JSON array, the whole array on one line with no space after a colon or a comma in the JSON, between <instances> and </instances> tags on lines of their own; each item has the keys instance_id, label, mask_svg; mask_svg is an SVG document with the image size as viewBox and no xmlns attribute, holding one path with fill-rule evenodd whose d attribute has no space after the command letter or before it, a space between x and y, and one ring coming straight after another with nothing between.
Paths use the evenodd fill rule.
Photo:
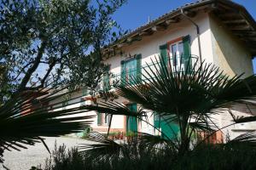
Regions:
<instances>
[{"instance_id":1,"label":"low dark hedge of bushy plants along the bottom edge","mask_svg":"<svg viewBox=\"0 0 256 170\"><path fill-rule=\"evenodd\" d=\"M65 150L62 145L55 148L51 160L47 159L44 170L253 170L256 168L254 160L256 150L244 144L235 146L201 145L196 150L189 151L183 157L177 157L173 150L163 150L148 152L145 148L129 144L124 149L129 156L114 157L111 161L91 159L79 155L79 151L74 148ZM38 168L39 170L40 168Z\"/></svg>"}]
</instances>

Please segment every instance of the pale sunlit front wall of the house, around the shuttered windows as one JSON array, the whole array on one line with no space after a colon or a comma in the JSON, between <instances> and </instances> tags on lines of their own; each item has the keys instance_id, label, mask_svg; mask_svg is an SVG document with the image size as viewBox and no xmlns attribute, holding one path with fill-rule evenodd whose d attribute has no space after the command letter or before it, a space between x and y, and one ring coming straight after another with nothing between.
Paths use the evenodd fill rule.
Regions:
<instances>
[{"instance_id":1,"label":"pale sunlit front wall of the house, around the shuttered windows","mask_svg":"<svg viewBox=\"0 0 256 170\"><path fill-rule=\"evenodd\" d=\"M198 14L195 18L193 18L193 20L195 20L195 23L197 23L201 29L200 38L202 59L206 60L206 62L212 63L212 41L208 14ZM166 31L157 31L152 36L143 37L141 41L133 42L130 46L122 48L122 55L116 55L106 59L105 64L110 65L110 72L115 75L119 75L121 72L121 60L125 60L136 54L142 54L142 65L146 65L146 63L152 62L151 59L155 60L155 58L159 57L160 45L177 39L178 37L185 37L187 35L190 36L191 54L199 56L196 28L189 20L183 19L178 24L170 26L170 28L166 29ZM117 101L124 102L123 99L117 99ZM154 117L150 112L148 112L148 120L151 124L154 124ZM113 116L113 124L111 128L123 127L123 131L125 132L125 126L125 116ZM154 133L154 128L145 122L140 122L138 128L143 133ZM103 128L101 127L97 127L97 129L103 131Z\"/></svg>"}]
</instances>

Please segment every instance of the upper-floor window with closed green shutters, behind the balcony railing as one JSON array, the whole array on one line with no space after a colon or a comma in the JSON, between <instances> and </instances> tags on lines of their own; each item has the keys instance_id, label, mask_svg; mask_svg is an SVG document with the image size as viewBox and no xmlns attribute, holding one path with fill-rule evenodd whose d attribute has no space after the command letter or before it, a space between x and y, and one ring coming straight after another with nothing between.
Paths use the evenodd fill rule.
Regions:
<instances>
[{"instance_id":1,"label":"upper-floor window with closed green shutters, behind the balcony railing","mask_svg":"<svg viewBox=\"0 0 256 170\"><path fill-rule=\"evenodd\" d=\"M121 61L122 84L134 84L135 79L137 81L141 80L141 59L142 55L138 54L135 58Z\"/></svg>"}]
</instances>

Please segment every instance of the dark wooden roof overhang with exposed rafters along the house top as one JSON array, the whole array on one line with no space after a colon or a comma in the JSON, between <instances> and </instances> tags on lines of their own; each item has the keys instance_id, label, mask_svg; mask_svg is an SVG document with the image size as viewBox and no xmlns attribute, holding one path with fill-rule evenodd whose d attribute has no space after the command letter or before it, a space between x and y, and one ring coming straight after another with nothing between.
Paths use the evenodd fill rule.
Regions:
<instances>
[{"instance_id":1,"label":"dark wooden roof overhang with exposed rafters along the house top","mask_svg":"<svg viewBox=\"0 0 256 170\"><path fill-rule=\"evenodd\" d=\"M256 55L256 22L246 8L230 0L201 0L186 4L121 37L117 42L103 48L103 54L113 55L120 48L151 36L156 31L165 31L171 26L177 26L183 19L182 10L190 18L195 17L200 10L215 14L234 35L245 42L252 56Z\"/></svg>"}]
</instances>

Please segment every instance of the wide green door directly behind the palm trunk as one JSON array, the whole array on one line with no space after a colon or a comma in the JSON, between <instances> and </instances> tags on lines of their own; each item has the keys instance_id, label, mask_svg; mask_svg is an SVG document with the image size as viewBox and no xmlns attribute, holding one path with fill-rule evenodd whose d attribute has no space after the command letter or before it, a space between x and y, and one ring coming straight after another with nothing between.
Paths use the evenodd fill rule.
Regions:
<instances>
[{"instance_id":1,"label":"wide green door directly behind the palm trunk","mask_svg":"<svg viewBox=\"0 0 256 170\"><path fill-rule=\"evenodd\" d=\"M161 137L164 139L176 139L179 133L179 127L175 122L168 122L166 117L162 118L159 115L154 114L154 127L160 129ZM155 130L155 134L159 134L159 131ZM166 136L165 136L166 135Z\"/></svg>"}]
</instances>

